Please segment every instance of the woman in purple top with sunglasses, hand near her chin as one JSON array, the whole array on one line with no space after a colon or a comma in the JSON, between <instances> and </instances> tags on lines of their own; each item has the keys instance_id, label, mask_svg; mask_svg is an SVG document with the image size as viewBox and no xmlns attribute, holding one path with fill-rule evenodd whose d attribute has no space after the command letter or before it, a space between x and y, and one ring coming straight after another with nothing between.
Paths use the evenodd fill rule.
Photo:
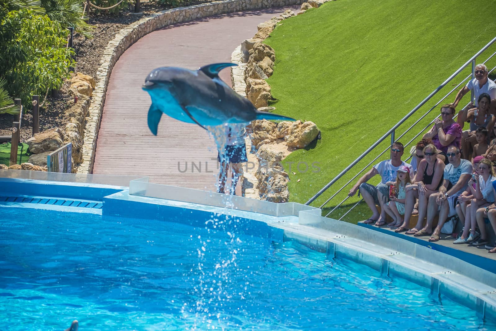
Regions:
<instances>
[{"instance_id":1,"label":"woman in purple top with sunglasses, hand near her chin","mask_svg":"<svg viewBox=\"0 0 496 331\"><path fill-rule=\"evenodd\" d=\"M434 146L440 154L444 155L444 164L448 164L446 152L449 146L460 148L460 140L462 137L462 128L460 124L453 120L455 108L453 105L443 105L441 107L441 118L434 119L434 126L431 131L424 134L423 138L431 138Z\"/></svg>"}]
</instances>

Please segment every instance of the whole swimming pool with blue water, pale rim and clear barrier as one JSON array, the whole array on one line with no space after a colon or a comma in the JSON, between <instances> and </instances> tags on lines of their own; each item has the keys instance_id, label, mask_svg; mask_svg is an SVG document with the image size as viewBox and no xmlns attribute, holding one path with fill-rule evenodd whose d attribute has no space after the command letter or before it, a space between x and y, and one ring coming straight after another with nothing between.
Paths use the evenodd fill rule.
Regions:
<instances>
[{"instance_id":1,"label":"whole swimming pool with blue water, pale rim and clear barrier","mask_svg":"<svg viewBox=\"0 0 496 331\"><path fill-rule=\"evenodd\" d=\"M496 329L495 274L315 208L22 176L0 178L0 330Z\"/></svg>"}]
</instances>

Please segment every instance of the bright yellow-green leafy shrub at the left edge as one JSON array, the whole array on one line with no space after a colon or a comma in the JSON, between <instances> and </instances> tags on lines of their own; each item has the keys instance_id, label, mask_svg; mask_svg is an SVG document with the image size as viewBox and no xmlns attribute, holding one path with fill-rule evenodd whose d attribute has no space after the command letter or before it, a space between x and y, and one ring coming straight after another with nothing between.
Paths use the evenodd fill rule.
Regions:
<instances>
[{"instance_id":1,"label":"bright yellow-green leafy shrub at the left edge","mask_svg":"<svg viewBox=\"0 0 496 331\"><path fill-rule=\"evenodd\" d=\"M0 72L10 96L29 107L32 95L59 89L74 66L68 30L29 8L0 12Z\"/></svg>"}]
</instances>

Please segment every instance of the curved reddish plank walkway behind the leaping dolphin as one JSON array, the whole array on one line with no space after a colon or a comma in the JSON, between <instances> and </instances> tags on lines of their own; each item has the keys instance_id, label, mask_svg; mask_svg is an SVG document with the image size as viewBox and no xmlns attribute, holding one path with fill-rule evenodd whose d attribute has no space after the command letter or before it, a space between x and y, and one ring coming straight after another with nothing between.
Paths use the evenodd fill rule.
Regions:
<instances>
[{"instance_id":1,"label":"curved reddish plank walkway behind the leaping dolphin","mask_svg":"<svg viewBox=\"0 0 496 331\"><path fill-rule=\"evenodd\" d=\"M256 26L299 6L223 14L171 25L132 45L114 66L98 133L93 173L149 175L150 182L215 190L218 174L213 139L196 124L162 116L157 136L148 129L151 101L141 90L160 66L189 69L230 62L232 52L252 38ZM231 85L230 70L220 77ZM194 167L192 166L194 163Z\"/></svg>"}]
</instances>

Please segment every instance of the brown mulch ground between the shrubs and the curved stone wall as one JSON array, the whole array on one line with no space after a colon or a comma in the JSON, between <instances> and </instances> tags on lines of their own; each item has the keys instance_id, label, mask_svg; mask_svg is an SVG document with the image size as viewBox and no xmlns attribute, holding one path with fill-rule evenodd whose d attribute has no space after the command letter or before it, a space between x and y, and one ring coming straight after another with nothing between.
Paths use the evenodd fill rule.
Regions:
<instances>
[{"instance_id":1,"label":"brown mulch ground between the shrubs and the curved stone wall","mask_svg":"<svg viewBox=\"0 0 496 331\"><path fill-rule=\"evenodd\" d=\"M188 2L189 4L187 5L193 5L209 1L194 0ZM103 13L95 16L93 12L90 13L90 24L94 26L94 37L87 39L77 33L74 35L72 46L77 62L74 72L82 72L83 74L90 75L98 82L96 72L100 60L109 41L114 39L116 33L142 17L169 8L164 5L158 5L156 2L142 2L141 12L139 13L134 13L134 6L129 6L129 8L121 10L119 15L105 15ZM40 132L53 127L63 128L67 123L68 118L64 116L64 113L65 110L70 108L70 104L67 104L67 102L72 100L72 96L68 91L69 86L70 82L67 80L60 91L47 97L46 102L43 102L45 96L40 96L42 103L42 107L40 108ZM0 114L0 136L11 135L10 128L12 127L13 119L13 115ZM21 142L25 142L32 137L32 130L32 114L31 110L27 110L24 111L21 120Z\"/></svg>"}]
</instances>

